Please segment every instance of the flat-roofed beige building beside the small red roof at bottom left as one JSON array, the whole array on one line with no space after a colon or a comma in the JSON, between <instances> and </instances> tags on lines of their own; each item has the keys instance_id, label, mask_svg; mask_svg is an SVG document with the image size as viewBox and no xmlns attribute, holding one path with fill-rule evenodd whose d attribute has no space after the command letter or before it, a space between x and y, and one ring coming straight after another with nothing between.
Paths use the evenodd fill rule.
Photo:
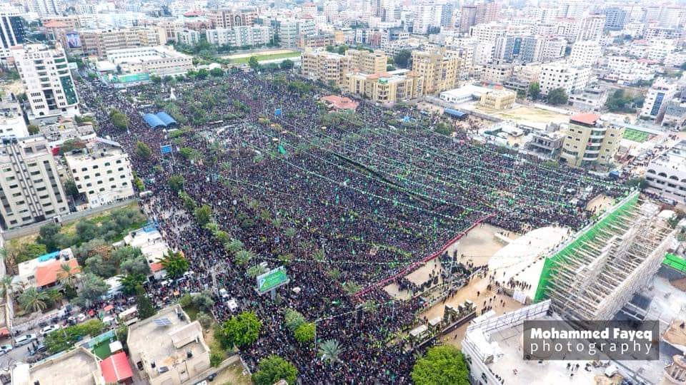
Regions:
<instances>
[{"instance_id":1,"label":"flat-roofed beige building beside the small red roof at bottom left","mask_svg":"<svg viewBox=\"0 0 686 385\"><path fill-rule=\"evenodd\" d=\"M131 324L126 345L139 376L151 385L184 384L210 368L202 327L178 304Z\"/></svg>"}]
</instances>

